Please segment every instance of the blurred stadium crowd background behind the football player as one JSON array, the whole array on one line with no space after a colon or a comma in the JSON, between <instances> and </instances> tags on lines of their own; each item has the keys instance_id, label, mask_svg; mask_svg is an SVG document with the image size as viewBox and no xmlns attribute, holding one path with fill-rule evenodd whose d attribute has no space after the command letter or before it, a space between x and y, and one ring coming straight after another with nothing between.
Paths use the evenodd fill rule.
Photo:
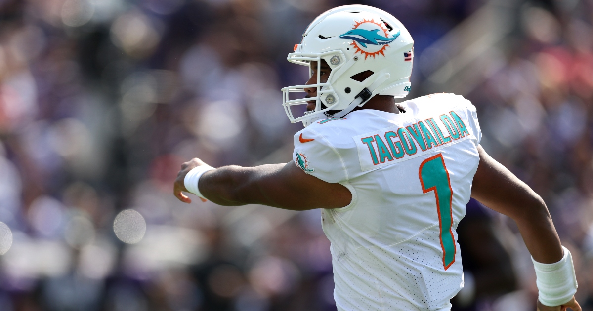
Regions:
<instances>
[{"instance_id":1,"label":"blurred stadium crowd background behind the football player","mask_svg":"<svg viewBox=\"0 0 593 311\"><path fill-rule=\"evenodd\" d=\"M291 161L286 61L331 7L415 39L412 94L476 105L593 310L593 1L0 0L0 310L335 310L318 210L183 204L182 162ZM194 200L196 201L196 200ZM534 310L514 223L468 204L454 310Z\"/></svg>"}]
</instances>

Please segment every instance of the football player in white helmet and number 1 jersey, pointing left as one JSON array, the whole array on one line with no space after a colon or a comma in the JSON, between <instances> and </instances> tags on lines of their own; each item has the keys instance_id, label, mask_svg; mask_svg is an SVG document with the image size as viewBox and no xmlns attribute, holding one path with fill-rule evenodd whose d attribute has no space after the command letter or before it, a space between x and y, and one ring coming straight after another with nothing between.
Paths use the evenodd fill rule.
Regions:
<instances>
[{"instance_id":1,"label":"football player in white helmet and number 1 jersey, pointing left","mask_svg":"<svg viewBox=\"0 0 593 311\"><path fill-rule=\"evenodd\" d=\"M517 223L538 309L581 310L546 204L480 146L474 105L454 94L395 104L410 91L413 60L400 21L364 5L330 9L288 60L310 68L307 84L282 89L289 119L305 126L293 161L215 169L192 159L174 184L179 200L190 203L189 192L222 206L321 209L338 310L447 311L464 285L455 228L473 197Z\"/></svg>"}]
</instances>

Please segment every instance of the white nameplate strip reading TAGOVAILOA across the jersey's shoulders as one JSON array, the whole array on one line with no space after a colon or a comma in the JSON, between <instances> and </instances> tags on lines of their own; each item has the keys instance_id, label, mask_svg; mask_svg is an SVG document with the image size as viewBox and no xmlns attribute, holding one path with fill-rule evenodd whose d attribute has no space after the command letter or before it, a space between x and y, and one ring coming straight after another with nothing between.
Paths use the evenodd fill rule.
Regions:
<instances>
[{"instance_id":1,"label":"white nameplate strip reading TAGOVAILOA across the jersey's shoulders","mask_svg":"<svg viewBox=\"0 0 593 311\"><path fill-rule=\"evenodd\" d=\"M416 158L470 138L463 113L449 111L352 137L362 171Z\"/></svg>"}]
</instances>

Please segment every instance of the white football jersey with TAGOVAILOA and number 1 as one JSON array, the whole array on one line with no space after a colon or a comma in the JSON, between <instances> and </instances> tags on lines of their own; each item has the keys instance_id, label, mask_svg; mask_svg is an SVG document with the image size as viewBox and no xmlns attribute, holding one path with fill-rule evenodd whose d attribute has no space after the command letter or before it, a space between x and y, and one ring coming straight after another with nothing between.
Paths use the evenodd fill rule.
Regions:
<instances>
[{"instance_id":1,"label":"white football jersey with TAGOVAILOA and number 1","mask_svg":"<svg viewBox=\"0 0 593 311\"><path fill-rule=\"evenodd\" d=\"M338 310L444 310L463 287L455 228L480 161L476 108L454 94L357 110L295 134L295 163L352 193L321 210Z\"/></svg>"}]
</instances>

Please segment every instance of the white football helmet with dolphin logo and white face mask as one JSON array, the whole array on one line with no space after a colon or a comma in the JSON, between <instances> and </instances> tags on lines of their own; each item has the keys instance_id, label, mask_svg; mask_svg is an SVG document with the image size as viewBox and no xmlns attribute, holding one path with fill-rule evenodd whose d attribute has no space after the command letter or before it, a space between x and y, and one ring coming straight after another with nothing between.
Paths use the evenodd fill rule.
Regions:
<instances>
[{"instance_id":1,"label":"white football helmet with dolphin logo and white face mask","mask_svg":"<svg viewBox=\"0 0 593 311\"><path fill-rule=\"evenodd\" d=\"M319 15L302 34L300 44L288 61L309 66L321 65L323 59L331 68L327 82L282 88L282 105L291 123L302 121L306 127L323 118L341 118L357 105L362 106L374 95L406 97L410 92L413 59L412 36L391 14L366 5L345 5ZM359 82L350 77L371 70ZM317 88L317 96L291 100L291 92ZM292 107L315 100L315 110L294 117ZM337 111L337 112L336 112ZM333 115L330 115L333 113Z\"/></svg>"}]
</instances>

